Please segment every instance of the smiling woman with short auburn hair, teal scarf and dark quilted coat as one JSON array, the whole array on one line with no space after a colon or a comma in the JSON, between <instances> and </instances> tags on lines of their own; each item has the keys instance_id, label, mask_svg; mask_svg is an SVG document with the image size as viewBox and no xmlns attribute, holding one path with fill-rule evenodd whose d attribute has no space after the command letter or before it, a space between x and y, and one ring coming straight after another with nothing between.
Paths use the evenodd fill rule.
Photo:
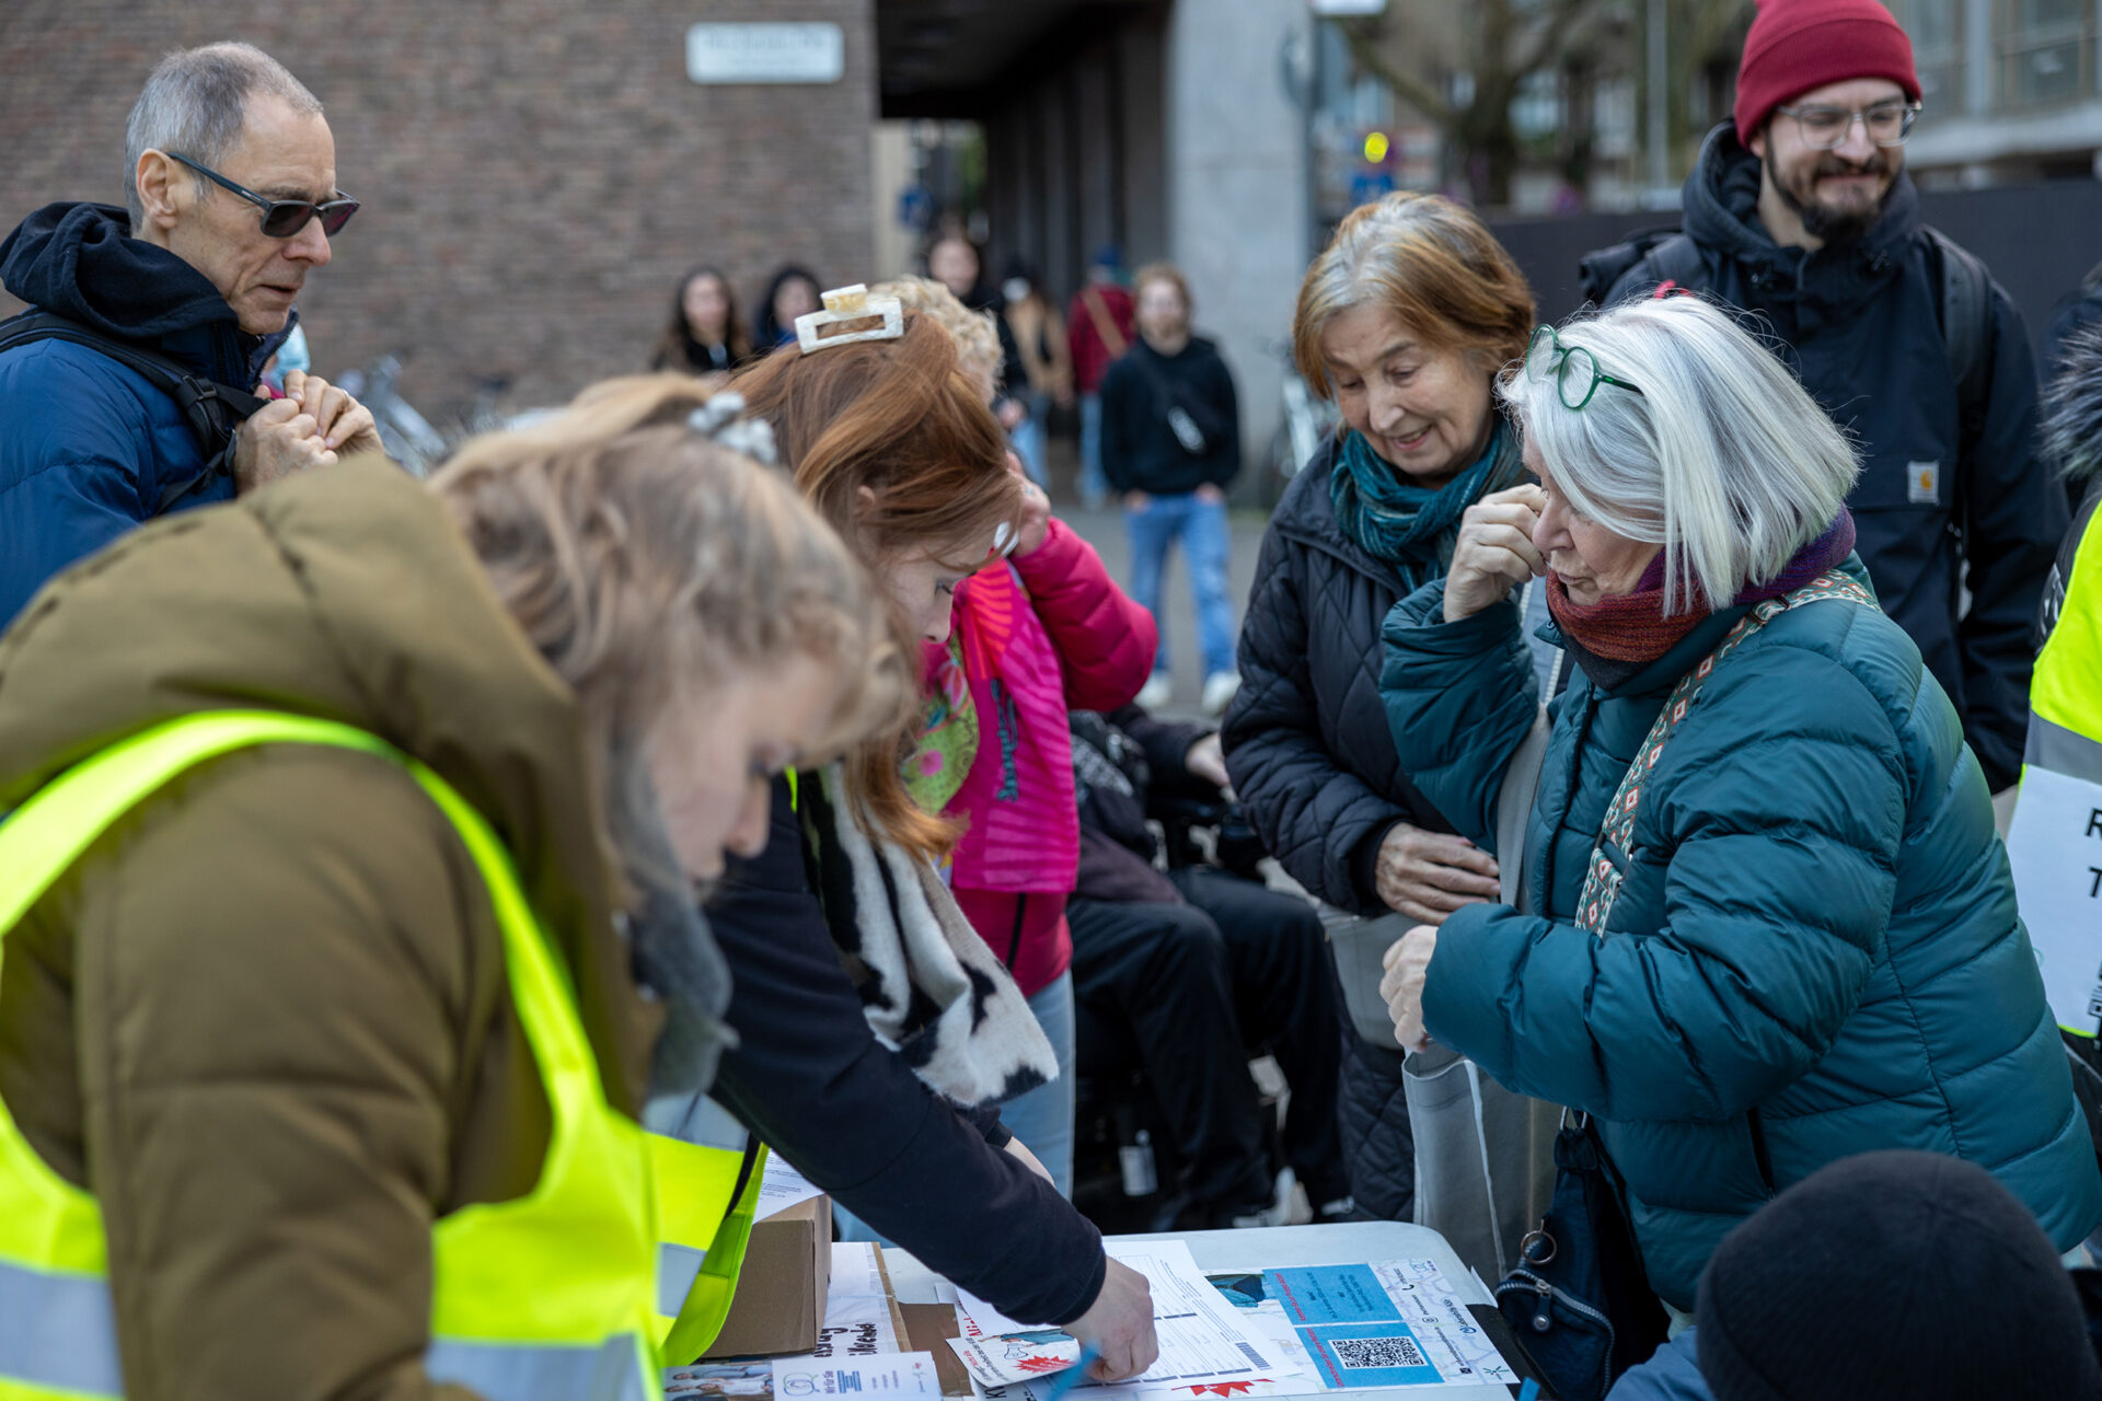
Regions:
<instances>
[{"instance_id":1,"label":"smiling woman with short auburn hair, teal scarf and dark quilted coat","mask_svg":"<svg viewBox=\"0 0 2102 1401\"><path fill-rule=\"evenodd\" d=\"M1307 269L1293 355L1343 424L1263 536L1225 712L1228 771L1263 844L1339 916L1438 922L1497 897L1497 863L1423 798L1379 708L1379 624L1440 578L1461 513L1518 483L1497 372L1532 292L1480 218L1394 193L1349 214ZM1408 1220L1415 1147L1392 1044L1345 1038L1343 1159L1316 1204Z\"/></svg>"}]
</instances>

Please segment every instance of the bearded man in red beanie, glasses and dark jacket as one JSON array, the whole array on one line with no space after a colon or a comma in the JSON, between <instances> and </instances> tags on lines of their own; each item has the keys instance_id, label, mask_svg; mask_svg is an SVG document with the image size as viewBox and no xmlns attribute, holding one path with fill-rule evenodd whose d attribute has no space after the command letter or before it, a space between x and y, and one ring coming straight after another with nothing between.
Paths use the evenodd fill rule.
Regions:
<instances>
[{"instance_id":1,"label":"bearded man in red beanie, glasses and dark jacket","mask_svg":"<svg viewBox=\"0 0 2102 1401\"><path fill-rule=\"evenodd\" d=\"M1919 221L1904 174L1917 113L1913 46L1877 0L1766 0L1734 120L1686 181L1684 233L1591 254L1585 292L1686 288L1761 317L1860 447L1848 498L1860 559L2001 792L2022 767L2033 626L2066 500L2035 449L2022 315Z\"/></svg>"}]
</instances>

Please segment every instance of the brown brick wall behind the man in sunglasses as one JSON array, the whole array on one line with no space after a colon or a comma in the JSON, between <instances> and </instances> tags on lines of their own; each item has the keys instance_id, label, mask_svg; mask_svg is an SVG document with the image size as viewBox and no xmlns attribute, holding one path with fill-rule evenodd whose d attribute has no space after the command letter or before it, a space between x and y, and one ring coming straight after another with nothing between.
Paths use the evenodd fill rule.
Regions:
<instances>
[{"instance_id":1,"label":"brown brick wall behind the man in sunglasses","mask_svg":"<svg viewBox=\"0 0 2102 1401\"><path fill-rule=\"evenodd\" d=\"M698 86L704 19L837 21L847 76ZM532 405L645 368L694 263L755 319L776 265L830 286L872 256L872 0L0 0L0 231L50 200L120 202L145 74L219 38L313 88L364 202L301 305L315 368L406 353L433 418L483 376Z\"/></svg>"}]
</instances>

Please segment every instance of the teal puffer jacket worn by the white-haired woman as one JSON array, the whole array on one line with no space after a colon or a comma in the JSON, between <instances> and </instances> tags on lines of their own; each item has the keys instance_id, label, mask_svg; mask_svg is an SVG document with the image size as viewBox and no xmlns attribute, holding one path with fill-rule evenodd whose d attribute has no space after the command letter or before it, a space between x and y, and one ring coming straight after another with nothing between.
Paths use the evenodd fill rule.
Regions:
<instances>
[{"instance_id":1,"label":"teal puffer jacket worn by the white-haired woman","mask_svg":"<svg viewBox=\"0 0 2102 1401\"><path fill-rule=\"evenodd\" d=\"M1846 565L1867 582L1858 559ZM1745 613L1705 620L1614 691L1555 708L1526 836L1547 918L1469 905L1438 935L1429 1033L1505 1086L1600 1120L1650 1285L1692 1309L1722 1237L1869 1149L1955 1153L2068 1250L2102 1178L1978 760L1881 611L1789 609L1715 668L1644 790L1606 937L1572 924L1600 819L1677 678ZM1532 716L1518 611L1444 622L1444 584L1385 624L1402 762L1495 840Z\"/></svg>"}]
</instances>

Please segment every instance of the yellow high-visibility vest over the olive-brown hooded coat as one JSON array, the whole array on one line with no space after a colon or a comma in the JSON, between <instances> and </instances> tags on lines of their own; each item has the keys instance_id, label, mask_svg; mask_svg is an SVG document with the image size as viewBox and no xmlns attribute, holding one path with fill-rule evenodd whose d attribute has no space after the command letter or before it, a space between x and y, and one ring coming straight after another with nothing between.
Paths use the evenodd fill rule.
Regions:
<instances>
[{"instance_id":1,"label":"yellow high-visibility vest over the olive-brown hooded coat","mask_svg":"<svg viewBox=\"0 0 2102 1401\"><path fill-rule=\"evenodd\" d=\"M658 1235L645 1134L605 1103L568 973L511 855L431 769L355 727L275 712L195 714L114 744L0 821L0 956L6 930L118 817L185 769L259 744L374 754L437 802L496 907L511 1002L547 1090L551 1132L534 1191L431 1227L425 1372L490 1401L656 1395ZM101 1210L36 1155L0 1103L0 1401L122 1395Z\"/></svg>"}]
</instances>

